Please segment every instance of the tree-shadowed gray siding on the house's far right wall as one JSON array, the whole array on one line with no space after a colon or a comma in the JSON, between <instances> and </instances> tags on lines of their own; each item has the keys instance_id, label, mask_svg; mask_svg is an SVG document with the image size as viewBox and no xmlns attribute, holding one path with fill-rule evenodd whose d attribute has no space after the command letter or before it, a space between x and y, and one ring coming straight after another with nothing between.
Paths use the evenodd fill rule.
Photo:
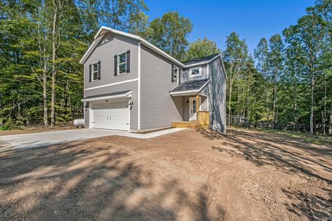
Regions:
<instances>
[{"instance_id":1,"label":"tree-shadowed gray siding on the house's far right wall","mask_svg":"<svg viewBox=\"0 0 332 221\"><path fill-rule=\"evenodd\" d=\"M214 59L209 64L210 83L207 89L209 95L210 128L226 132L226 79L220 59Z\"/></svg>"}]
</instances>

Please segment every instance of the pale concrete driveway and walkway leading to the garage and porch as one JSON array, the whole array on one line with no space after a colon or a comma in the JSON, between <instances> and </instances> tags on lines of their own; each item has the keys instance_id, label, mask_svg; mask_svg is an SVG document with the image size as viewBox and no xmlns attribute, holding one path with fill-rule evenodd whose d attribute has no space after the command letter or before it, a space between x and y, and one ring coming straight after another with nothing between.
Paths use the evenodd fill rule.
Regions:
<instances>
[{"instance_id":1,"label":"pale concrete driveway and walkway leading to the garage and porch","mask_svg":"<svg viewBox=\"0 0 332 221\"><path fill-rule=\"evenodd\" d=\"M68 131L49 131L42 133L26 133L19 135L6 135L0 137L0 152L6 151L8 148L33 148L72 142L76 140L85 140L95 137L106 137L111 135L119 135L134 138L151 138L181 131L181 128L169 128L163 131L152 133L129 133L128 131L113 131L102 129L78 129Z\"/></svg>"}]
</instances>

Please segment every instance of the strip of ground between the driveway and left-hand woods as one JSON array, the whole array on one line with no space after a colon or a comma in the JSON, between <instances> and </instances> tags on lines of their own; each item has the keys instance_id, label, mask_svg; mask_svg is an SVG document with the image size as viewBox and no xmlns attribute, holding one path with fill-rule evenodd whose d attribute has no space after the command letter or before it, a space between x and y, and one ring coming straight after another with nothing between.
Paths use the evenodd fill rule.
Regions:
<instances>
[{"instance_id":1,"label":"strip of ground between the driveway and left-hand woods","mask_svg":"<svg viewBox=\"0 0 332 221\"><path fill-rule=\"evenodd\" d=\"M48 131L64 131L64 130L74 130L74 129L80 129L80 128L83 128L83 127L77 127L77 126L73 126L73 125L62 125L62 126L55 126L55 127L28 126L28 127L22 128L21 130L0 131L0 136L24 134L24 133L39 133L39 132L48 132Z\"/></svg>"}]
</instances>

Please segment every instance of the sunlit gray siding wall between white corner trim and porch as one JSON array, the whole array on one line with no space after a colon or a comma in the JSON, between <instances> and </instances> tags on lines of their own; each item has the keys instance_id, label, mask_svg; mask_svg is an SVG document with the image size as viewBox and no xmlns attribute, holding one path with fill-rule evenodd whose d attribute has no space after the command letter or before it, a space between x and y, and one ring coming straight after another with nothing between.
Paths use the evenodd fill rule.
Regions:
<instances>
[{"instance_id":1,"label":"sunlit gray siding wall between white corner trim and porch","mask_svg":"<svg viewBox=\"0 0 332 221\"><path fill-rule=\"evenodd\" d=\"M178 86L172 83L172 64L142 46L140 78L141 130L167 127L173 121L182 121L181 102L169 95L169 91ZM180 106L177 108L176 104Z\"/></svg>"}]
</instances>

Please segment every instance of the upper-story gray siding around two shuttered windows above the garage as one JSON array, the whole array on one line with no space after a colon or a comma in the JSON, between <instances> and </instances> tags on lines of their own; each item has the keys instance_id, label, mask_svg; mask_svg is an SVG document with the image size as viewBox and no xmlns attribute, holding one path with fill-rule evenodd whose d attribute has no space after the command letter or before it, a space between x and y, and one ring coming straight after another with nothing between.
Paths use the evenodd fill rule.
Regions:
<instances>
[{"instance_id":1,"label":"upper-story gray siding around two shuttered windows above the garage","mask_svg":"<svg viewBox=\"0 0 332 221\"><path fill-rule=\"evenodd\" d=\"M108 33L104 36L109 41L93 50L84 64L85 88L112 84L138 77L138 41L122 35ZM102 41L101 41L102 42ZM114 76L114 55L130 50L130 73ZM100 61L100 80L89 82L89 65Z\"/></svg>"}]
</instances>

